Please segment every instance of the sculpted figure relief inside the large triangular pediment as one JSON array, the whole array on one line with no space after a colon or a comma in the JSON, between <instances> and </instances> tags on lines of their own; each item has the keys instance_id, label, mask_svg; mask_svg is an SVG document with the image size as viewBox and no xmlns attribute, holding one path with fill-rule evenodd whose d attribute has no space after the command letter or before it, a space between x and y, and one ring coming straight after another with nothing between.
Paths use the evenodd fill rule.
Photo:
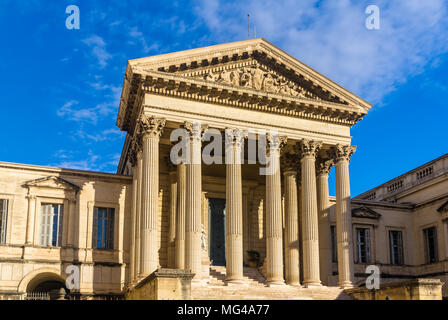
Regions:
<instances>
[{"instance_id":1,"label":"sculpted figure relief inside the large triangular pediment","mask_svg":"<svg viewBox=\"0 0 448 320\"><path fill-rule=\"evenodd\" d=\"M260 64L234 69L210 70L197 78L293 97L314 97L295 82L279 76Z\"/></svg>"}]
</instances>

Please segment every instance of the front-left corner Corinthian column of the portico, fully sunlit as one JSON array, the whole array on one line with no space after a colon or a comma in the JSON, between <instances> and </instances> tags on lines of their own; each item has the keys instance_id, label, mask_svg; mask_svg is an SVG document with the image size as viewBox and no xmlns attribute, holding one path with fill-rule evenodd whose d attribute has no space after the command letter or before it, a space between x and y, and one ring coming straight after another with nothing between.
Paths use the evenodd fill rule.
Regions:
<instances>
[{"instance_id":1,"label":"front-left corner Corinthian column of the portico, fully sunlit","mask_svg":"<svg viewBox=\"0 0 448 320\"><path fill-rule=\"evenodd\" d=\"M159 139L165 120L142 115L143 174L141 210L141 274L147 276L159 266Z\"/></svg>"}]
</instances>

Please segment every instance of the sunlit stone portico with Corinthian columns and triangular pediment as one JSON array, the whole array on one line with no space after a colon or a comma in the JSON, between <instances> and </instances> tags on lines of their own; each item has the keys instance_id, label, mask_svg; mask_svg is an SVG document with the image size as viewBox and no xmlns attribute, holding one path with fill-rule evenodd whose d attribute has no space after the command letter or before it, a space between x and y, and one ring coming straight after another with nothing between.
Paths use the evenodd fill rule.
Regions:
<instances>
[{"instance_id":1,"label":"sunlit stone portico with Corinthian columns and triangular pediment","mask_svg":"<svg viewBox=\"0 0 448 320\"><path fill-rule=\"evenodd\" d=\"M334 164L339 285L352 286L350 127L369 108L263 39L129 61L117 125L127 132L119 171L136 192L130 282L159 266L206 279L208 199L223 198L227 284L244 282L246 252L257 250L268 286L321 286L319 221ZM189 153L173 164L177 129ZM203 160L209 130L225 142L213 164Z\"/></svg>"}]
</instances>

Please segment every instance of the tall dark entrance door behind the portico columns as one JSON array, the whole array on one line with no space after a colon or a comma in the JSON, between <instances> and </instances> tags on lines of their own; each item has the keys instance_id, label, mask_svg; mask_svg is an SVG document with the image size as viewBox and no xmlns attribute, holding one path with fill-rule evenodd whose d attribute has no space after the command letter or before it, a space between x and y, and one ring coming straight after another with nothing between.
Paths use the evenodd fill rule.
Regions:
<instances>
[{"instance_id":1,"label":"tall dark entrance door behind the portico columns","mask_svg":"<svg viewBox=\"0 0 448 320\"><path fill-rule=\"evenodd\" d=\"M226 265L226 200L209 199L210 260L214 266Z\"/></svg>"}]
</instances>

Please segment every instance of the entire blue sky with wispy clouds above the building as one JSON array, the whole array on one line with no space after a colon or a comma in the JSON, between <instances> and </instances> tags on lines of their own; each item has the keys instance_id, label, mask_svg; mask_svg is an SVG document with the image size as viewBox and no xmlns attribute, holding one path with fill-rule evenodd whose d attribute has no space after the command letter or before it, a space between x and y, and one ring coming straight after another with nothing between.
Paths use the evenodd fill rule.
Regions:
<instances>
[{"instance_id":1,"label":"entire blue sky with wispy clouds above the building","mask_svg":"<svg viewBox=\"0 0 448 320\"><path fill-rule=\"evenodd\" d=\"M247 39L249 12L257 37L374 104L352 129L353 195L448 152L446 1L0 0L0 161L115 172L127 60Z\"/></svg>"}]
</instances>

